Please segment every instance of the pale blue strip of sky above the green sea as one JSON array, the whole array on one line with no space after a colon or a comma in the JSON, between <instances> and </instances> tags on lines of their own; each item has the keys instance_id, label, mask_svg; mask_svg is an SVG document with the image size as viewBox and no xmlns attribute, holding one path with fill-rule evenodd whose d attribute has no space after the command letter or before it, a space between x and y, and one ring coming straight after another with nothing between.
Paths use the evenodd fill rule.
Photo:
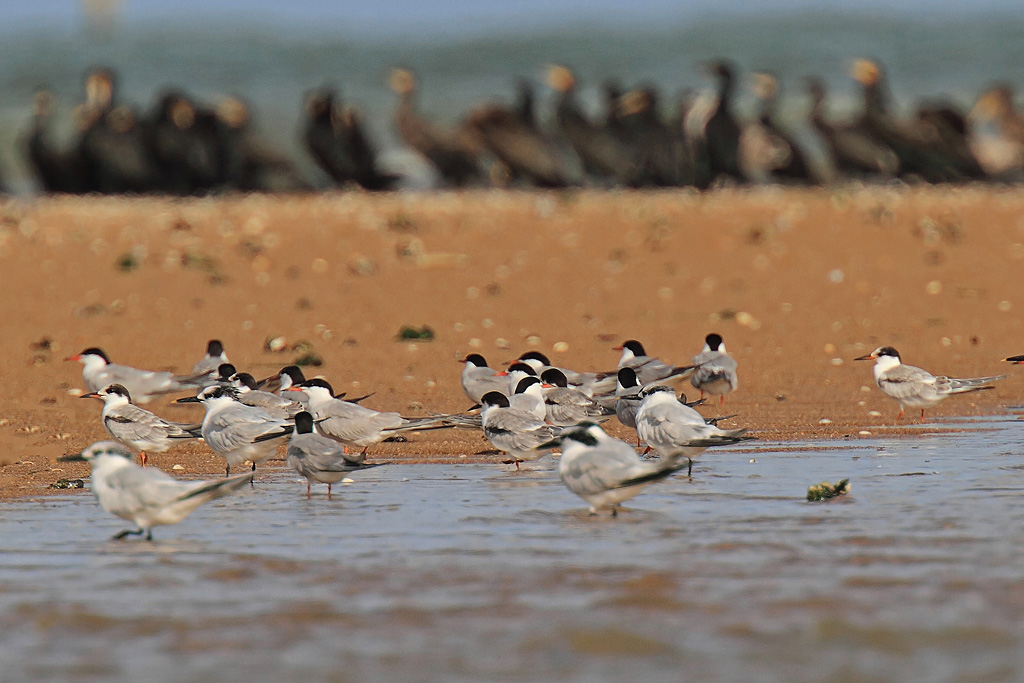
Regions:
<instances>
[{"instance_id":1,"label":"pale blue strip of sky above the green sea","mask_svg":"<svg viewBox=\"0 0 1024 683\"><path fill-rule=\"evenodd\" d=\"M965 11L1024 12L1024 0L85 0L120 5L122 29L164 23L245 23L315 29L375 37L393 33L460 35L501 28L542 28L551 24L657 24L699 15L827 10L921 14L936 18ZM72 32L84 24L83 0L0 0L2 31L26 28Z\"/></svg>"}]
</instances>

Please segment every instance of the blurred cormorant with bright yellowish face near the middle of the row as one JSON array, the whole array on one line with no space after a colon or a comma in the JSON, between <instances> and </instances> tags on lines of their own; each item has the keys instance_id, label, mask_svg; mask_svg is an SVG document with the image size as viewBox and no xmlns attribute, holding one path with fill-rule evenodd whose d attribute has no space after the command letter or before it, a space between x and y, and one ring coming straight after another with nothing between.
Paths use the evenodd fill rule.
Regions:
<instances>
[{"instance_id":1,"label":"blurred cormorant with bright yellowish face near the middle of the row","mask_svg":"<svg viewBox=\"0 0 1024 683\"><path fill-rule=\"evenodd\" d=\"M548 84L559 93L555 120L584 171L595 178L632 185L638 166L630 148L606 126L595 126L575 98L575 77L565 67L548 70Z\"/></svg>"}]
</instances>

